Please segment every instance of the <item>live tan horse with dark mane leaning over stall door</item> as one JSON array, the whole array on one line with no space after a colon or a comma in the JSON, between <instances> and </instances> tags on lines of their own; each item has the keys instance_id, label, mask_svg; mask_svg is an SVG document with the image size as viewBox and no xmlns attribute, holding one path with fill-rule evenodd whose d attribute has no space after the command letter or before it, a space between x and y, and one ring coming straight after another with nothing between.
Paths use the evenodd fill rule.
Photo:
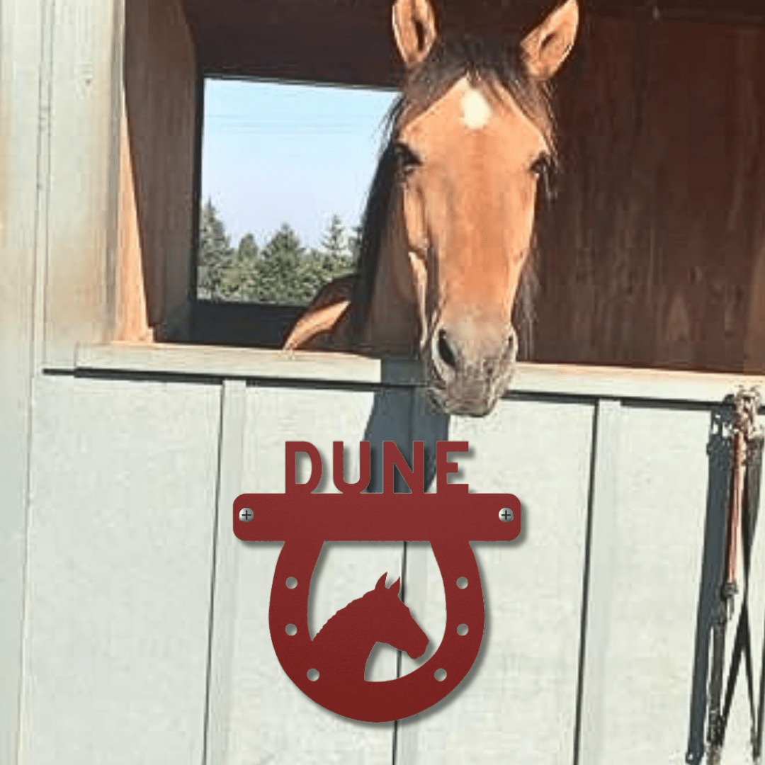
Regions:
<instances>
[{"instance_id":1,"label":"live tan horse with dark mane leaning over stall door","mask_svg":"<svg viewBox=\"0 0 765 765\"><path fill-rule=\"evenodd\" d=\"M537 190L555 170L549 81L577 0L519 42L438 34L431 0L395 0L405 68L362 218L353 275L321 289L285 350L419 357L441 411L486 415L528 327Z\"/></svg>"}]
</instances>

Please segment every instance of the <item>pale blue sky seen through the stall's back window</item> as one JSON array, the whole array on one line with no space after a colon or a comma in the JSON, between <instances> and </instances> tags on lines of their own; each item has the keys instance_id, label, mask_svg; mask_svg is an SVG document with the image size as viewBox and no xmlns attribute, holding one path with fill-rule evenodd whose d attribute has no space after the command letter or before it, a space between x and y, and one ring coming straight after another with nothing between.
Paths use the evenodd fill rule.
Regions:
<instances>
[{"instance_id":1,"label":"pale blue sky seen through the stall's back window","mask_svg":"<svg viewBox=\"0 0 765 765\"><path fill-rule=\"evenodd\" d=\"M207 80L202 197L236 245L289 223L317 246L333 213L358 222L396 93Z\"/></svg>"}]
</instances>

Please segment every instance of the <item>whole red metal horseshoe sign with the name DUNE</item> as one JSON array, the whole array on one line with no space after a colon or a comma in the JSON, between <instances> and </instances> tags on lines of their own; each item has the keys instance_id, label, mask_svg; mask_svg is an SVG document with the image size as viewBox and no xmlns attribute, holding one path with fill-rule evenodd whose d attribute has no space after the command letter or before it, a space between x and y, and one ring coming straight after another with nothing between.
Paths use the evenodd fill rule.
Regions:
<instances>
[{"instance_id":1,"label":"whole red metal horseshoe sign with the name DUNE","mask_svg":"<svg viewBox=\"0 0 765 765\"><path fill-rule=\"evenodd\" d=\"M521 506L513 494L468 493L467 484L448 483L448 474L457 470L457 464L448 461L448 452L467 451L467 442L438 442L436 493L423 491L422 441L414 447L410 469L396 445L386 441L383 492L364 494L369 443L360 446L360 480L350 484L343 480L343 444L336 442L334 482L342 493L314 494L321 480L321 457L308 442L288 441L285 493L242 494L233 506L233 528L239 539L284 542L269 607L271 640L282 669L314 702L353 720L411 717L457 688L483 639L483 590L470 542L509 542L521 530ZM295 483L297 452L311 457L314 469L308 483ZM393 493L394 464L412 493ZM373 590L338 611L312 640L311 575L324 542L402 541L431 544L446 594L444 639L433 656L408 675L370 682L363 671L376 642L389 643L415 659L428 645L427 636L399 600L399 582L386 587L383 574Z\"/></svg>"}]
</instances>

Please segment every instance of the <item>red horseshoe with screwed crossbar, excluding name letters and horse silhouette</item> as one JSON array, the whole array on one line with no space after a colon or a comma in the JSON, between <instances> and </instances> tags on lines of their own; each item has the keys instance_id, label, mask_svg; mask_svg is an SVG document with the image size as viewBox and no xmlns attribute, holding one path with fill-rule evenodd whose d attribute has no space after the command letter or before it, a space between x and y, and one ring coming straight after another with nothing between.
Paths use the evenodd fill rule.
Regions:
<instances>
[{"instance_id":1,"label":"red horseshoe with screwed crossbar, excluding name letters and horse silhouette","mask_svg":"<svg viewBox=\"0 0 765 765\"><path fill-rule=\"evenodd\" d=\"M448 484L435 494L242 494L233 506L236 536L246 542L284 542L271 588L269 627L276 656L288 677L314 702L343 717L389 722L417 715L449 695L473 666L483 640L483 588L470 542L509 542L521 530L513 494L468 493ZM250 509L249 521L240 511ZM505 519L500 517L503 509ZM249 513L247 513L249 516ZM324 542L430 542L446 595L446 629L425 664L395 680L333 678L316 670L308 633L311 575ZM288 586L288 579L297 581ZM467 579L467 586L457 580ZM466 634L457 626L467 624ZM294 625L289 634L285 628ZM436 672L445 670L444 679Z\"/></svg>"}]
</instances>

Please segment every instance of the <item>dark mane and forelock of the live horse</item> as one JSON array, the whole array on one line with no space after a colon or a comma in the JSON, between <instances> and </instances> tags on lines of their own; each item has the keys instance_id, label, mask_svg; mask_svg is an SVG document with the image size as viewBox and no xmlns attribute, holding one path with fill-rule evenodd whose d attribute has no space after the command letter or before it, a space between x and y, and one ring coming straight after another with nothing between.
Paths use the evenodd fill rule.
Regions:
<instances>
[{"instance_id":1,"label":"dark mane and forelock of the live horse","mask_svg":"<svg viewBox=\"0 0 765 765\"><path fill-rule=\"evenodd\" d=\"M519 41L473 34L439 37L425 61L409 74L401 96L386 116L386 137L369 187L361 224L356 285L350 309L351 331L356 342L360 340L366 311L371 303L382 236L386 230L392 192L396 187L396 139L402 125L425 112L462 77L468 77L472 83L483 83L495 91L500 88L506 90L539 127L547 139L551 154L555 155L555 126L549 90L546 83L533 80L526 74ZM542 194L539 196L543 196L545 186L540 191ZM536 286L534 250L535 239L532 238L532 252L526 259L513 306L513 323L519 330L522 347L526 349L531 340Z\"/></svg>"}]
</instances>

